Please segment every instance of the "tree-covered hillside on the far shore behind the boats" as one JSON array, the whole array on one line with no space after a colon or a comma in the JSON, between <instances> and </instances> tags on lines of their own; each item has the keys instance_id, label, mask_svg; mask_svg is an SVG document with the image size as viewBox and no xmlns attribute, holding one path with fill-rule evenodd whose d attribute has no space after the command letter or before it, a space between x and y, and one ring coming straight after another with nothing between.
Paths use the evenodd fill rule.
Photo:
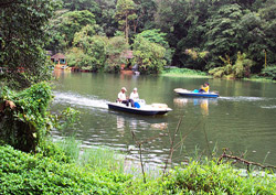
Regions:
<instances>
[{"instance_id":1,"label":"tree-covered hillside on the far shore behind the boats","mask_svg":"<svg viewBox=\"0 0 276 195\"><path fill-rule=\"evenodd\" d=\"M131 50L129 63L146 73L172 65L248 77L274 71L275 9L275 0L63 0L46 48L94 72L118 72Z\"/></svg>"}]
</instances>

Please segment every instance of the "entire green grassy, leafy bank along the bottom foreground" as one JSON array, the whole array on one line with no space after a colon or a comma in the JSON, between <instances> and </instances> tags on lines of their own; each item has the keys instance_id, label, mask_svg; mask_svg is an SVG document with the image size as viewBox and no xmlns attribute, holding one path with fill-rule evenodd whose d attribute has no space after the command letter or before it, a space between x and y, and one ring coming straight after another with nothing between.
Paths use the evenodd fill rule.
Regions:
<instances>
[{"instance_id":1,"label":"entire green grassy, leafy bank along the bottom foreground","mask_svg":"<svg viewBox=\"0 0 276 195\"><path fill-rule=\"evenodd\" d=\"M156 180L147 175L144 183L123 172L124 162L113 151L89 149L79 155L79 147L67 143L47 144L35 155L0 147L0 194L276 193L276 178L268 174L240 176L230 164L206 159L190 161Z\"/></svg>"}]
</instances>

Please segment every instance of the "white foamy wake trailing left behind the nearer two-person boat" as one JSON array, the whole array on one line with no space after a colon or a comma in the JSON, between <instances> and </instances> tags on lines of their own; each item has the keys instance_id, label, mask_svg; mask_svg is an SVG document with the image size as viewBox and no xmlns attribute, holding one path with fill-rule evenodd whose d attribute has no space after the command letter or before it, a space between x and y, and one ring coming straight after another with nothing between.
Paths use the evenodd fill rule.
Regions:
<instances>
[{"instance_id":1,"label":"white foamy wake trailing left behind the nearer two-person boat","mask_svg":"<svg viewBox=\"0 0 276 195\"><path fill-rule=\"evenodd\" d=\"M107 109L107 100L98 99L96 96L82 96L73 93L59 93L54 91L54 105L55 104L70 104L76 107L93 107Z\"/></svg>"}]
</instances>

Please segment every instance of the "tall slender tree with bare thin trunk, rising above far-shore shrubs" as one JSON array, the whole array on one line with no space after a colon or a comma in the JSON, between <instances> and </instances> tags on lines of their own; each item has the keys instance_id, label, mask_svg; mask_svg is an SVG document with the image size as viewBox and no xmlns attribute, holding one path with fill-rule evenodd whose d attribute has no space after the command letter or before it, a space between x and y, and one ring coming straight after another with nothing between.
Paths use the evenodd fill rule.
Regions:
<instances>
[{"instance_id":1,"label":"tall slender tree with bare thin trunk, rising above far-shore shrubs","mask_svg":"<svg viewBox=\"0 0 276 195\"><path fill-rule=\"evenodd\" d=\"M125 31L125 37L128 43L129 23L137 18L136 4L132 0L118 0L116 4L116 13L119 25Z\"/></svg>"}]
</instances>

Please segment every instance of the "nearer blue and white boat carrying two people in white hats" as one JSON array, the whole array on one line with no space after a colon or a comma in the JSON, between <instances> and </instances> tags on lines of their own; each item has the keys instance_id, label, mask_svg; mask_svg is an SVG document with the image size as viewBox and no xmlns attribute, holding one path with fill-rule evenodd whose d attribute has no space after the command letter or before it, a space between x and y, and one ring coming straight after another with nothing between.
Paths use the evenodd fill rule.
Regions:
<instances>
[{"instance_id":1,"label":"nearer blue and white boat carrying two people in white hats","mask_svg":"<svg viewBox=\"0 0 276 195\"><path fill-rule=\"evenodd\" d=\"M107 105L108 108L112 110L125 111L144 116L164 115L172 110L168 108L168 106L164 104L144 105L140 108L127 107L125 104L120 102L108 102Z\"/></svg>"}]
</instances>

